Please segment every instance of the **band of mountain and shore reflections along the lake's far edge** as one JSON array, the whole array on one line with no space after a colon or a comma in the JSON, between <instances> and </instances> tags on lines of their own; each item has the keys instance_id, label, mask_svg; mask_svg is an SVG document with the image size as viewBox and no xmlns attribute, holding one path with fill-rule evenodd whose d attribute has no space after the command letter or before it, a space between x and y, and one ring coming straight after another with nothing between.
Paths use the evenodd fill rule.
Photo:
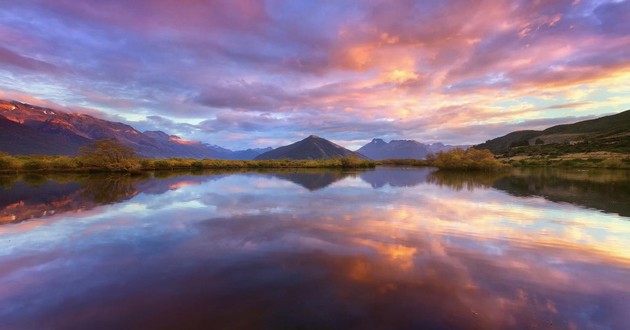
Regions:
<instances>
[{"instance_id":1,"label":"band of mountain and shore reflections along the lake's far edge","mask_svg":"<svg viewBox=\"0 0 630 330\"><path fill-rule=\"evenodd\" d=\"M162 194L234 171L156 172L143 175L54 174L0 176L0 224L89 210L128 200L138 193ZM431 168L378 168L371 171L261 170L246 172L285 180L308 191L360 178L374 189L434 184L454 190L494 188L514 196L540 196L630 216L630 172L615 170L514 169L509 172L453 172Z\"/></svg>"}]
</instances>

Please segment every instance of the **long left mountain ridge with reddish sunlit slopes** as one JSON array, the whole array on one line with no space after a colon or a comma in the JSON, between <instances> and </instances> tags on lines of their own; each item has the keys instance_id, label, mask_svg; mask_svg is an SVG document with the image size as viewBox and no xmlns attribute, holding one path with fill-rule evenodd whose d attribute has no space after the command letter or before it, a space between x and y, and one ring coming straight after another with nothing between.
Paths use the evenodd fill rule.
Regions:
<instances>
[{"instance_id":1,"label":"long left mountain ridge with reddish sunlit slopes","mask_svg":"<svg viewBox=\"0 0 630 330\"><path fill-rule=\"evenodd\" d=\"M161 131L140 132L117 122L15 101L0 101L0 151L10 154L77 155L92 141L114 139L149 158L253 159L269 149L232 151Z\"/></svg>"}]
</instances>

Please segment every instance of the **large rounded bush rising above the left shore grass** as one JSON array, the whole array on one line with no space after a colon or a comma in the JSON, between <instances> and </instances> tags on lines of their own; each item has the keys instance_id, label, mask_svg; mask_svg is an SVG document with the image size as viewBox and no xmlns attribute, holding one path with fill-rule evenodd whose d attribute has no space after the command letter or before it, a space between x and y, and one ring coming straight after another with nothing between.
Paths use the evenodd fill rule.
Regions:
<instances>
[{"instance_id":1,"label":"large rounded bush rising above the left shore grass","mask_svg":"<svg viewBox=\"0 0 630 330\"><path fill-rule=\"evenodd\" d=\"M90 166L131 171L140 167L136 151L116 140L94 141L79 151L81 160Z\"/></svg>"}]
</instances>

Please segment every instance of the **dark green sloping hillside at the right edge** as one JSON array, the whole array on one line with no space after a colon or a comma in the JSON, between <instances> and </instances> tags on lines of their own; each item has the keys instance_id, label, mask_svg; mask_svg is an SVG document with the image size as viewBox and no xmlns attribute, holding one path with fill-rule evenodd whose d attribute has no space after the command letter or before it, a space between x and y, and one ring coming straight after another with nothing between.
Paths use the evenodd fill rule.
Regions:
<instances>
[{"instance_id":1,"label":"dark green sloping hillside at the right edge","mask_svg":"<svg viewBox=\"0 0 630 330\"><path fill-rule=\"evenodd\" d=\"M516 131L475 146L493 153L513 148L554 145L558 151L616 151L630 153L630 110L573 124L557 125L543 131Z\"/></svg>"}]
</instances>

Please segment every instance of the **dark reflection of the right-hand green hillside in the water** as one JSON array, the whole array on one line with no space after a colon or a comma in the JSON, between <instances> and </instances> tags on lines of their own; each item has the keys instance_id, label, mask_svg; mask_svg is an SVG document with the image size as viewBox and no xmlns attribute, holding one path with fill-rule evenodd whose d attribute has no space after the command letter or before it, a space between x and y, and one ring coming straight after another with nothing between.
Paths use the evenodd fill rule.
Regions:
<instances>
[{"instance_id":1,"label":"dark reflection of the right-hand green hillside in the water","mask_svg":"<svg viewBox=\"0 0 630 330\"><path fill-rule=\"evenodd\" d=\"M430 174L428 182L457 190L492 187L514 196L540 196L552 202L630 216L629 171L560 168L514 169L498 173L437 171Z\"/></svg>"}]
</instances>

